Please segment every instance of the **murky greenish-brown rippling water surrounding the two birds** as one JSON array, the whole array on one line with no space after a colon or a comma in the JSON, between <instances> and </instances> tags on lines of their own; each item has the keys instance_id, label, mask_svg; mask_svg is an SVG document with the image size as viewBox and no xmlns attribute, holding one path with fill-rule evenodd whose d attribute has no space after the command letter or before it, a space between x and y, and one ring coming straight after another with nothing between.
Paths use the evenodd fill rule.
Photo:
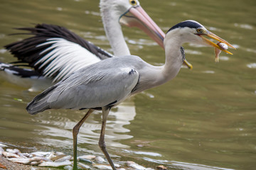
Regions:
<instances>
[{"instance_id":1,"label":"murky greenish-brown rippling water surrounding the two birds","mask_svg":"<svg viewBox=\"0 0 256 170\"><path fill-rule=\"evenodd\" d=\"M255 169L256 166L256 2L141 0L149 16L166 32L187 19L231 42L234 55L214 62L212 48L184 45L193 70L181 69L163 86L134 96L108 118L106 143L116 161L170 169ZM4 45L25 38L11 28L52 23L70 28L105 50L98 1L0 0L0 61L16 59ZM164 63L164 51L141 30L123 28L131 53L151 64ZM23 150L72 154L72 128L82 111L26 113L38 92L28 92L0 77L0 142ZM78 154L102 154L97 146L101 113L80 130ZM140 147L138 147L140 146Z\"/></svg>"}]
</instances>

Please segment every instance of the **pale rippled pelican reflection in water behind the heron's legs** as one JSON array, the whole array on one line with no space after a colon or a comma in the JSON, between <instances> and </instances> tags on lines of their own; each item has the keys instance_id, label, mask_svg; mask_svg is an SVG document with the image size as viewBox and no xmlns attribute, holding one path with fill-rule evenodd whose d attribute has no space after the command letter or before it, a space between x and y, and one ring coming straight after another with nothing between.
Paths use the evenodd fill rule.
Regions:
<instances>
[{"instance_id":1,"label":"pale rippled pelican reflection in water behind the heron's legs","mask_svg":"<svg viewBox=\"0 0 256 170\"><path fill-rule=\"evenodd\" d=\"M70 113L69 113L70 112ZM64 113L64 115L63 115ZM72 129L78 123L79 118L73 120L69 114L82 116L82 111L46 111L39 113L36 118L33 118L36 123L43 128L37 131L37 135L46 136L43 138L42 145L55 146L56 142L61 146L70 148L73 145ZM136 115L134 101L129 99L113 108L107 120L107 128L105 141L107 146L127 148L119 140L132 138L132 135L124 134L129 132L129 129L124 128L124 125L129 125ZM97 145L101 130L101 111L95 111L85 121L80 128L78 145L82 143ZM64 140L63 140L64 139Z\"/></svg>"}]
</instances>

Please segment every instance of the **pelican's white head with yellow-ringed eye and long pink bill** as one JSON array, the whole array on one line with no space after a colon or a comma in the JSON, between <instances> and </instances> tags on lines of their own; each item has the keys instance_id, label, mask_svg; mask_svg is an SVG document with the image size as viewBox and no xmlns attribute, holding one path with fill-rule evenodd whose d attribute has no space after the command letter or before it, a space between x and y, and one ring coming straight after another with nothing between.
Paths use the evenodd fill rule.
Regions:
<instances>
[{"instance_id":1,"label":"pelican's white head with yellow-ringed eye and long pink bill","mask_svg":"<svg viewBox=\"0 0 256 170\"><path fill-rule=\"evenodd\" d=\"M105 11L108 11L108 17L112 21L124 26L138 27L164 47L164 32L144 11L138 0L101 0L100 9L102 17L105 17Z\"/></svg>"}]
</instances>

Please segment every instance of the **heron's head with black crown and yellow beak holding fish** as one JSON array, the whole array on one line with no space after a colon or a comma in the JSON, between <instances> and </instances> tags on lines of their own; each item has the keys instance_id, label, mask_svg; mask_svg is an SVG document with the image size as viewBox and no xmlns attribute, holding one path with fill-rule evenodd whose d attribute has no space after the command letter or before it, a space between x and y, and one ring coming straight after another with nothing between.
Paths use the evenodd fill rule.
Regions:
<instances>
[{"instance_id":1,"label":"heron's head with black crown and yellow beak holding fish","mask_svg":"<svg viewBox=\"0 0 256 170\"><path fill-rule=\"evenodd\" d=\"M228 52L228 50L226 50L227 48L224 47L224 45L220 45L220 42L228 45L228 47L232 47L233 49L235 49L235 47L233 47L233 45L230 45L229 42L211 33L203 25L201 25L201 23L193 20L183 21L170 28L166 33L164 44L166 44L166 41L168 40L174 40L174 37L176 38L176 43L179 43L180 45L184 42L192 42L199 45L215 47L215 49L221 50L230 55L232 55L232 53ZM206 37L213 38L213 40L217 40L218 43L214 43L211 40L208 40ZM216 55L216 57L218 57L218 55Z\"/></svg>"}]
</instances>

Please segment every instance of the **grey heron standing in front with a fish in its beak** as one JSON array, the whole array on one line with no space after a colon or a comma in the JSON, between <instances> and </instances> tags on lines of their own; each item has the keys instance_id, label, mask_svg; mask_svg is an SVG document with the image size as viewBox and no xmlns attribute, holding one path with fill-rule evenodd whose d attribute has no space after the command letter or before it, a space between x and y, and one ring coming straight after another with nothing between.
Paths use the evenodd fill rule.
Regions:
<instances>
[{"instance_id":1,"label":"grey heron standing in front with a fish in its beak","mask_svg":"<svg viewBox=\"0 0 256 170\"><path fill-rule=\"evenodd\" d=\"M218 50L228 52L205 36L233 47L230 43L206 30L201 23L183 21L170 28L166 33L164 38L166 61L163 66L148 64L134 55L108 58L84 67L71 74L67 79L49 87L33 98L28 103L26 110L31 115L35 115L48 109L89 109L73 128L73 169L77 168L77 135L80 126L94 110L102 110L99 146L112 169L116 169L105 145L105 126L110 109L129 96L174 79L185 60L184 50L181 47L185 42L210 45Z\"/></svg>"}]
</instances>

